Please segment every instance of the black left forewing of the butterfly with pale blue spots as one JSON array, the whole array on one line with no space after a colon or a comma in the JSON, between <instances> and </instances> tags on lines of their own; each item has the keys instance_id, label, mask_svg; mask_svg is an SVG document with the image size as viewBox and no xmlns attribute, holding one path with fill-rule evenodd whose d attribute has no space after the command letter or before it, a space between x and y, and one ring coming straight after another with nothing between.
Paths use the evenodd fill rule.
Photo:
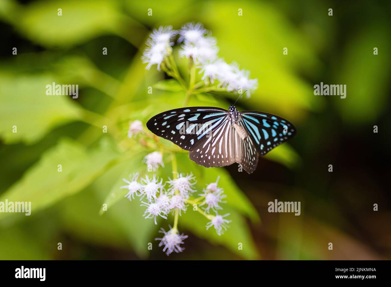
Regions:
<instances>
[{"instance_id":1,"label":"black left forewing of the butterfly with pale blue spots","mask_svg":"<svg viewBox=\"0 0 391 287\"><path fill-rule=\"evenodd\" d=\"M228 111L215 107L173 109L149 119L147 128L184 150L194 150L226 122L228 115Z\"/></svg>"}]
</instances>

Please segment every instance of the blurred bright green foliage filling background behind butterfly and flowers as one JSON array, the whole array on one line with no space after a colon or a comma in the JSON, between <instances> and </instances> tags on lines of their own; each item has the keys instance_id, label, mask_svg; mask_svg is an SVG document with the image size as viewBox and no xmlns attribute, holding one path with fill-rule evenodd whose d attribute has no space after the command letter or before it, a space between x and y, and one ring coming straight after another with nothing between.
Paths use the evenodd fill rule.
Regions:
<instances>
[{"instance_id":1,"label":"blurred bright green foliage filling background behind butterfly and flowers","mask_svg":"<svg viewBox=\"0 0 391 287\"><path fill-rule=\"evenodd\" d=\"M185 97L176 81L154 69L146 71L140 60L149 31L159 25L178 29L188 21L203 22L217 37L219 55L228 62L237 61L251 71L252 78L258 78L258 90L250 99L239 101L240 109L278 114L297 126L330 106L348 126L372 122L385 111L391 67L386 53L389 22L368 25L352 39L345 39L341 55L328 67L332 71L328 78L333 81L328 84L347 84L347 98L328 99L313 94L313 85L322 81L320 75L327 68L322 59L328 50L325 45L337 33L321 10L325 6L309 4L318 5L314 11L319 16L304 11L304 23L298 25L297 7L285 1L240 2L242 17L238 17L238 5L236 1L176 0L0 2L0 20L18 35L14 39L23 39L17 46L18 55L11 55L14 44L9 43L9 57L0 63L0 155L13 161L2 160L2 176L12 173L15 178L11 186L2 180L0 201L32 201L33 210L30 217L0 214L0 259L62 258L56 251L57 242L66 241L64 234L88 244L130 250L137 258L151 258L147 243L158 235L158 226L171 223L172 217L155 226L152 220L143 219L139 202L125 200L119 187L130 173L145 171L142 159L152 152L137 140L126 139L128 121L146 123L159 112L182 107ZM63 16L57 16L58 8ZM149 8L153 16L147 16ZM108 47L108 55L102 55L103 47ZM284 47L288 47L288 55L283 55ZM373 47L379 55L373 55ZM178 57L176 54L174 50ZM176 60L185 76L187 61ZM52 82L79 84L79 98L47 96L45 86ZM147 93L149 86L154 89L152 94ZM234 94L223 96L236 98ZM227 107L221 98L208 94L192 96L189 105ZM14 125L17 133L12 132ZM103 125L108 134L102 133ZM205 218L189 208L179 219L179 230L224 246L233 254L230 258L261 258L263 242L250 230L260 225L260 216L253 206L256 203L242 191L246 187L235 184L224 168L198 166L187 153L176 156L178 171L193 172L199 191L221 177L228 196L224 211L232 220L220 237L214 230L206 230ZM289 144L265 158L292 170L302 164ZM172 175L170 161L171 156L165 154L160 176ZM62 173L57 172L58 164ZM263 191L262 186L260 189ZM106 212L102 203L108 204ZM312 239L299 235L300 226L314 226L313 221L286 220L280 225L276 251L280 258L327 256L311 247ZM45 229L42 226L47 230L38 232ZM237 242L242 242L243 250L238 250ZM302 242L310 251L300 250ZM78 256L75 258L81 258Z\"/></svg>"}]
</instances>

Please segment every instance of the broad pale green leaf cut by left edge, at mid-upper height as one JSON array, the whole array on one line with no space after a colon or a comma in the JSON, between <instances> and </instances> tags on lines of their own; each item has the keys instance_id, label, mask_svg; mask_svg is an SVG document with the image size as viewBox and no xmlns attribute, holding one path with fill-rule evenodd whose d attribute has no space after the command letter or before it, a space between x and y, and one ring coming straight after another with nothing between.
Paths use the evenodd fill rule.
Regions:
<instances>
[{"instance_id":1,"label":"broad pale green leaf cut by left edge, at mid-upper height","mask_svg":"<svg viewBox=\"0 0 391 287\"><path fill-rule=\"evenodd\" d=\"M5 143L34 143L51 128L80 118L68 96L48 96L50 75L11 76L0 72L0 137Z\"/></svg>"}]
</instances>

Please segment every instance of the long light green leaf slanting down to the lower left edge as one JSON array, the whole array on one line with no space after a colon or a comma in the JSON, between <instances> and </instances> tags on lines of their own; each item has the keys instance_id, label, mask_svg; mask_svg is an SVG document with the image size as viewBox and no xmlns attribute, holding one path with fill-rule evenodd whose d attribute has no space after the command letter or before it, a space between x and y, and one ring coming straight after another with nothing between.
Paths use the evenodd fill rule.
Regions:
<instances>
[{"instance_id":1,"label":"long light green leaf slanting down to the lower left edge","mask_svg":"<svg viewBox=\"0 0 391 287\"><path fill-rule=\"evenodd\" d=\"M81 144L63 139L2 194L1 201L31 201L32 213L35 213L81 191L113 164L116 157L117 153L107 144L86 151ZM58 171L60 164L61 172ZM10 213L0 213L0 219L7 215Z\"/></svg>"}]
</instances>

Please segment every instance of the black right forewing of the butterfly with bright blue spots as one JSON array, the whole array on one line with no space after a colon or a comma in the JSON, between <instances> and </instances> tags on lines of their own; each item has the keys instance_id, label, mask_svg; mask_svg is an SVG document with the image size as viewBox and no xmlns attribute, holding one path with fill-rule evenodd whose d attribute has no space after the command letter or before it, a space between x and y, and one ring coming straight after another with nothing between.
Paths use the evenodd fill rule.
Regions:
<instances>
[{"instance_id":1,"label":"black right forewing of the butterfly with bright blue spots","mask_svg":"<svg viewBox=\"0 0 391 287\"><path fill-rule=\"evenodd\" d=\"M243 128L260 155L265 155L296 134L294 125L279 116L257 111L245 111L239 114Z\"/></svg>"}]
</instances>

